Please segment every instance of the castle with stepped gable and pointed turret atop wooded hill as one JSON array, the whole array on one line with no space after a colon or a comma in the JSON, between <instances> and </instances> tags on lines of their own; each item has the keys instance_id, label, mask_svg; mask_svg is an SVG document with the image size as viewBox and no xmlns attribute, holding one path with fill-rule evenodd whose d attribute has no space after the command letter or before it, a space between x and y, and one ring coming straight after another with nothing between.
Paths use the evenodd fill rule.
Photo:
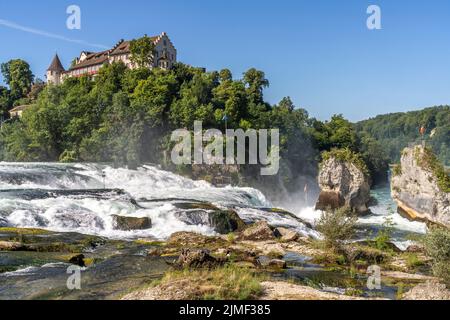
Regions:
<instances>
[{"instance_id":1,"label":"castle with stepped gable and pointed turret atop wooded hill","mask_svg":"<svg viewBox=\"0 0 450 320\"><path fill-rule=\"evenodd\" d=\"M151 68L170 69L177 61L177 50L165 32L159 36L151 37L155 45L153 65ZM64 79L81 76L95 76L100 68L108 63L122 61L128 68L134 69L136 66L131 62L131 41L120 40L113 48L102 52L82 51L76 58L72 66L66 70L58 54L53 58L47 69L47 83L55 85L61 84Z\"/></svg>"}]
</instances>

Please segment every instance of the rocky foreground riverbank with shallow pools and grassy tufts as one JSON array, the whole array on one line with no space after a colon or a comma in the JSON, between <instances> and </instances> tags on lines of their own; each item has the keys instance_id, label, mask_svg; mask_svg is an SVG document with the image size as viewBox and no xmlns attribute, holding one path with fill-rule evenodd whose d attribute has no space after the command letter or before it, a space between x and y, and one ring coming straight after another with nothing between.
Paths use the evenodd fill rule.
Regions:
<instances>
[{"instance_id":1,"label":"rocky foreground riverbank with shallow pools and grassy tufts","mask_svg":"<svg viewBox=\"0 0 450 320\"><path fill-rule=\"evenodd\" d=\"M2 299L397 299L434 279L421 253L420 268L408 263L410 253L370 243L334 253L264 222L222 236L179 232L164 242L1 228L0 243ZM374 262L382 289L370 291ZM70 265L82 267L81 290L66 287Z\"/></svg>"}]
</instances>

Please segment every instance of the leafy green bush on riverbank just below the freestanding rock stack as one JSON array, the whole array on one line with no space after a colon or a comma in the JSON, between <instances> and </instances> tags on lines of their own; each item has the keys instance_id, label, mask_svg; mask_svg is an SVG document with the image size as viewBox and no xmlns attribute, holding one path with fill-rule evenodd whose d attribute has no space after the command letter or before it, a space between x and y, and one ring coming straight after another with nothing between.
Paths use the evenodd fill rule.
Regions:
<instances>
[{"instance_id":1,"label":"leafy green bush on riverbank just below the freestanding rock stack","mask_svg":"<svg viewBox=\"0 0 450 320\"><path fill-rule=\"evenodd\" d=\"M348 207L328 209L316 221L316 228L322 233L327 247L339 249L343 241L351 239L355 234L357 219Z\"/></svg>"}]
</instances>

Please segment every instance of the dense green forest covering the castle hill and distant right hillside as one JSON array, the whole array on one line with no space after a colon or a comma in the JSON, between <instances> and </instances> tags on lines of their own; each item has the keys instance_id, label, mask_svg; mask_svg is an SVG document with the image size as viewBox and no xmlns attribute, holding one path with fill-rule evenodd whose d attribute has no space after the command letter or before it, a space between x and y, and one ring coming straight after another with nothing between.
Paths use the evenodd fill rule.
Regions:
<instances>
[{"instance_id":1,"label":"dense green forest covering the castle hill and distant right hillside","mask_svg":"<svg viewBox=\"0 0 450 320\"><path fill-rule=\"evenodd\" d=\"M267 103L263 91L269 81L263 71L252 68L235 79L228 69L207 72L182 63L168 71L150 70L145 65L149 52L132 55L139 68L107 64L94 78L70 78L59 86L36 80L25 61L2 64L7 87L0 87L0 114L7 118L14 106L31 107L21 118L3 122L0 160L164 164L172 131L192 129L194 120L202 121L204 130L279 128L280 172L267 179L287 190L302 188L303 177L315 177L322 152L332 149L358 153L373 181L383 180L401 146L418 138L422 123L438 128L433 143L441 157L450 156L448 107L427 109L420 119L388 115L355 125L335 115L319 121L289 97ZM256 178L254 166L241 171L263 179Z\"/></svg>"}]
</instances>

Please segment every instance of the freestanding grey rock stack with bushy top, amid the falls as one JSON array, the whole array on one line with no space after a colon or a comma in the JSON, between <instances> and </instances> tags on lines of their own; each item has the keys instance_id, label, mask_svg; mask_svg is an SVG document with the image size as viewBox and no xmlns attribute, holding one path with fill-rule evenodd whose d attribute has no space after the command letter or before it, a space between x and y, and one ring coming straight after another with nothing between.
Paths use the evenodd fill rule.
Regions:
<instances>
[{"instance_id":1,"label":"freestanding grey rock stack with bushy top, amid the falls","mask_svg":"<svg viewBox=\"0 0 450 320\"><path fill-rule=\"evenodd\" d=\"M353 163L336 157L326 160L319 172L319 186L321 192L316 210L348 206L359 214L369 211L369 179Z\"/></svg>"}]
</instances>

